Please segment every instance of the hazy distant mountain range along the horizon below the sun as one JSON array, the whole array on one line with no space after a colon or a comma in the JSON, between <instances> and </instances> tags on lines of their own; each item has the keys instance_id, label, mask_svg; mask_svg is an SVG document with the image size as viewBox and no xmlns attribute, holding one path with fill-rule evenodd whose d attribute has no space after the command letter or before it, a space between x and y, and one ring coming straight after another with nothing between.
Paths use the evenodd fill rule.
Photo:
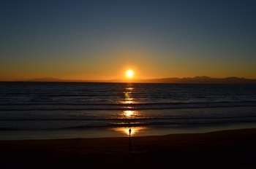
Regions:
<instances>
[{"instance_id":1,"label":"hazy distant mountain range along the horizon below the sun","mask_svg":"<svg viewBox=\"0 0 256 169\"><path fill-rule=\"evenodd\" d=\"M52 77L44 77L40 79L31 79L27 82L127 82L122 79L112 80L66 80L57 79ZM208 76L195 76L191 77L172 77L162 79L131 79L129 82L135 83L181 83L181 84L256 84L256 79L244 79L238 77L227 77L227 78L211 78Z\"/></svg>"}]
</instances>

